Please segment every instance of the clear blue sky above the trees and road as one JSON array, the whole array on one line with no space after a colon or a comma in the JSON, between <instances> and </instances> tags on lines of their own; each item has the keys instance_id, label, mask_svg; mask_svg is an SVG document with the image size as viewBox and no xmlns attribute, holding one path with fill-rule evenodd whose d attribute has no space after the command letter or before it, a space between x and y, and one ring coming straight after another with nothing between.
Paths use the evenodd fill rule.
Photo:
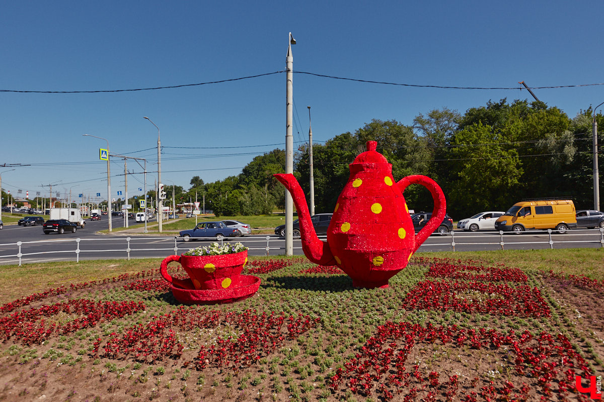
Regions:
<instances>
[{"instance_id":1,"label":"clear blue sky above the trees and road","mask_svg":"<svg viewBox=\"0 0 604 402\"><path fill-rule=\"evenodd\" d=\"M0 90L91 91L176 86L283 71L291 31L294 71L390 83L531 87L603 83L602 1L26 1L4 2ZM571 118L604 101L604 86L535 89ZM355 131L371 119L412 124L434 108L526 90L414 88L294 75L294 141ZM156 178L185 189L237 175L257 154L283 148L284 73L220 84L112 93L0 92L2 187L101 193L98 148L148 160ZM278 145L274 145L278 144ZM263 145L263 146L257 146ZM182 147L182 148L172 148ZM233 148L220 148L233 147ZM233 155L239 154L239 155ZM228 156L230 155L230 156ZM130 172L141 172L133 161ZM124 163L112 159L112 197ZM122 174L122 175L120 175ZM129 195L143 187L129 175Z\"/></svg>"}]
</instances>

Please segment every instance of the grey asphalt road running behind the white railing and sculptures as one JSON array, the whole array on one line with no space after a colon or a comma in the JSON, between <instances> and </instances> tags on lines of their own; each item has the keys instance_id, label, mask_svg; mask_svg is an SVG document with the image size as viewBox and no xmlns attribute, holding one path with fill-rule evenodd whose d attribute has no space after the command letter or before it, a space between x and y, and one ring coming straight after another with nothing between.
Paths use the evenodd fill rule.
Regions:
<instances>
[{"instance_id":1,"label":"grey asphalt road running behind the white railing and sculptures","mask_svg":"<svg viewBox=\"0 0 604 402\"><path fill-rule=\"evenodd\" d=\"M121 227L123 219L114 217L112 225ZM108 227L106 216L101 221L86 221L85 228L76 233L43 234L41 227L21 227L5 225L0 230L0 264L18 264L19 253L22 263L71 260L120 259L120 258L161 258L181 254L185 250L206 245L212 240L183 242L174 236L123 233L98 234L98 230ZM550 237L551 236L551 237ZM268 237L268 240L267 240ZM552 243L550 244L550 238ZM78 240L79 239L79 240ZM504 234L494 231L464 233L440 236L433 234L423 243L419 251L483 251L531 250L547 248L599 248L604 244L604 234L599 229L571 230L566 234L545 231L522 234ZM284 254L285 240L271 235L254 235L226 242L240 241L249 247L249 255L265 256ZM301 242L294 240L294 254L301 255Z\"/></svg>"}]
</instances>

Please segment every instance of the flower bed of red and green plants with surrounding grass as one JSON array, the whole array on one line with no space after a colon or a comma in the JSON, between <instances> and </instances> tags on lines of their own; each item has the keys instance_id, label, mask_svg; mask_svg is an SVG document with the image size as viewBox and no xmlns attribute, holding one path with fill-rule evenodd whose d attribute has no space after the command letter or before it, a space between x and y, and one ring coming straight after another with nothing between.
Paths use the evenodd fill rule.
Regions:
<instances>
[{"instance_id":1,"label":"flower bed of red and green plants with surrounding grass","mask_svg":"<svg viewBox=\"0 0 604 402\"><path fill-rule=\"evenodd\" d=\"M250 257L257 294L211 306L179 304L161 259L3 266L0 401L587 400L603 257L417 253L385 289Z\"/></svg>"}]
</instances>

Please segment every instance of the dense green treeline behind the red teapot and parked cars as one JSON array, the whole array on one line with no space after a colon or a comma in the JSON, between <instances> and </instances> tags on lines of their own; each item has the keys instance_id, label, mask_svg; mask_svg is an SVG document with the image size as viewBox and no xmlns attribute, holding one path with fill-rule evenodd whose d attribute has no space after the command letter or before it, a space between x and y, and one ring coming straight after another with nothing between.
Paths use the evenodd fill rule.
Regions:
<instances>
[{"instance_id":1,"label":"dense green treeline behind the red teapot and parked cars","mask_svg":"<svg viewBox=\"0 0 604 402\"><path fill-rule=\"evenodd\" d=\"M377 151L393 165L395 180L423 174L445 192L454 219L483 210L506 210L522 198L569 197L577 209L593 208L592 110L568 118L543 102L502 99L470 108L464 115L443 108L420 114L413 125L373 120L355 133L338 134L313 144L315 212L332 212L349 178L349 163L377 141ZM597 115L600 127L604 119ZM602 143L603 136L599 136ZM295 175L309 193L309 154L295 154ZM217 215L256 215L284 207L284 189L272 175L284 172L285 152L274 149L255 157L241 174L214 183L191 179L184 192L175 187L176 203L198 201ZM601 184L600 184L601 185ZM169 198L172 187L167 187ZM411 209L431 210L421 186L405 190Z\"/></svg>"}]
</instances>

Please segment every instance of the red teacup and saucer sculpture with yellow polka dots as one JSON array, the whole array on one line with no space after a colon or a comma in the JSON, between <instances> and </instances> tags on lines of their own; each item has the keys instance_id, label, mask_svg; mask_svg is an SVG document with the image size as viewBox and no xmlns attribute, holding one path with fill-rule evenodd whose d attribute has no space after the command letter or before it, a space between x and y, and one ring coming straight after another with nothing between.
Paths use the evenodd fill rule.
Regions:
<instances>
[{"instance_id":1,"label":"red teacup and saucer sculpture with yellow polka dots","mask_svg":"<svg viewBox=\"0 0 604 402\"><path fill-rule=\"evenodd\" d=\"M178 262L187 279L173 278L167 272L170 262ZM248 251L219 256L169 256L160 266L162 277L170 283L176 300L187 304L231 303L255 294L260 278L241 275L248 262Z\"/></svg>"}]
</instances>

